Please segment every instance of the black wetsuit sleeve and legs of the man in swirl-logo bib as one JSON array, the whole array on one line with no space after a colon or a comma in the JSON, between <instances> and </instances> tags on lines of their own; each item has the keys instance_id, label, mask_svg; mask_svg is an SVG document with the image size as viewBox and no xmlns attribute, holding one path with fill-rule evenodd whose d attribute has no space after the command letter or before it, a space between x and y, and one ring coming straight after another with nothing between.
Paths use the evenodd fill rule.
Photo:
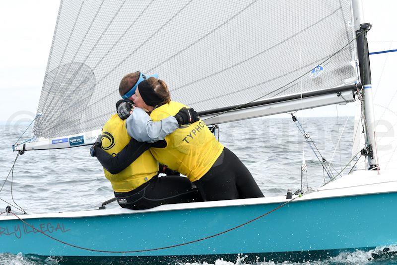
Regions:
<instances>
[{"instance_id":1,"label":"black wetsuit sleeve and legs of the man in swirl-logo bib","mask_svg":"<svg viewBox=\"0 0 397 265\"><path fill-rule=\"evenodd\" d=\"M117 174L137 159L143 152L153 147L164 147L165 141L154 144L141 143L131 139L130 143L115 157L95 146L95 156L101 165L111 174ZM128 192L116 192L118 203L123 208L149 209L162 204L202 201L200 192L192 187L187 177L154 176L146 183Z\"/></svg>"}]
</instances>

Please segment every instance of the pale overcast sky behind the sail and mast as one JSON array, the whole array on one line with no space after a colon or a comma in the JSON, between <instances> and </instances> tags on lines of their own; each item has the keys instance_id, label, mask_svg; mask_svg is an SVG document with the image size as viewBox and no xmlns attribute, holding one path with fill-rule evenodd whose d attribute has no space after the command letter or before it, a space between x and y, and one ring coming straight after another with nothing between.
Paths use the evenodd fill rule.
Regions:
<instances>
[{"instance_id":1,"label":"pale overcast sky behind the sail and mast","mask_svg":"<svg viewBox=\"0 0 397 265\"><path fill-rule=\"evenodd\" d=\"M387 22L390 16L385 14L390 12L394 15L392 11L397 10L396 7L397 1L394 0L364 0L365 18L372 19L370 22L373 24L373 20L382 18L379 21L383 20L384 25L396 32L394 26ZM36 112L58 8L57 0L1 1L0 121L31 120ZM371 31L371 34L377 34L377 39L384 34L385 40L397 40L396 33L391 33L388 27L376 27ZM338 107L339 115L352 115L351 105ZM305 116L335 114L334 106L305 111Z\"/></svg>"}]
</instances>

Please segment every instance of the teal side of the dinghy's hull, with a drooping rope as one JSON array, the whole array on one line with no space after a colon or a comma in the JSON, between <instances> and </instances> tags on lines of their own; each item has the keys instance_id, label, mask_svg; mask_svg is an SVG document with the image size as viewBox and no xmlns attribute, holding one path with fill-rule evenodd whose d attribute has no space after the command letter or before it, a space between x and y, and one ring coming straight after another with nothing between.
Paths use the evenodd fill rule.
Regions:
<instances>
[{"instance_id":1,"label":"teal side of the dinghy's hull, with a drooping rope","mask_svg":"<svg viewBox=\"0 0 397 265\"><path fill-rule=\"evenodd\" d=\"M98 251L55 241L18 219L1 220L0 248L2 252L12 254L70 257L255 254L283 260L300 254L298 256L303 259L317 258L317 254L332 256L346 249L397 244L396 202L397 192L292 201L244 226L177 247L170 246L239 226L282 202L24 219L53 238ZM146 251L164 247L170 248Z\"/></svg>"}]
</instances>

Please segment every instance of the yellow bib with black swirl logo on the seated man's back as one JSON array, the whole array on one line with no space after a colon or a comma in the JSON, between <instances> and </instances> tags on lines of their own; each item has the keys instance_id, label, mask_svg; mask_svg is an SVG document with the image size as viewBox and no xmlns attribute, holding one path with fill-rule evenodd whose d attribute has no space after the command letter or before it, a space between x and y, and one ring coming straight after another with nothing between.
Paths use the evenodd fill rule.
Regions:
<instances>
[{"instance_id":1,"label":"yellow bib with black swirl logo on the seated man's back","mask_svg":"<svg viewBox=\"0 0 397 265\"><path fill-rule=\"evenodd\" d=\"M131 140L127 133L126 120L117 114L105 123L102 129L102 149L116 156ZM140 155L130 166L118 174L110 174L103 169L105 177L112 183L116 192L127 192L147 182L157 175L158 163L149 150Z\"/></svg>"}]
</instances>

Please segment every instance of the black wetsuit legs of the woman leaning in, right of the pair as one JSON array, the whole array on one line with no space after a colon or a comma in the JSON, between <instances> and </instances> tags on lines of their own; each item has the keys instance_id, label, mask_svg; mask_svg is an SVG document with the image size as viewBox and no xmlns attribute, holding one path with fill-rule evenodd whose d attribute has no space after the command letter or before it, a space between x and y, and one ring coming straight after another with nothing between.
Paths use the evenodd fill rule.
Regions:
<instances>
[{"instance_id":1,"label":"black wetsuit legs of the woman leaning in, right of the pair","mask_svg":"<svg viewBox=\"0 0 397 265\"><path fill-rule=\"evenodd\" d=\"M227 148L214 166L193 183L207 201L264 197L247 167Z\"/></svg>"}]
</instances>

